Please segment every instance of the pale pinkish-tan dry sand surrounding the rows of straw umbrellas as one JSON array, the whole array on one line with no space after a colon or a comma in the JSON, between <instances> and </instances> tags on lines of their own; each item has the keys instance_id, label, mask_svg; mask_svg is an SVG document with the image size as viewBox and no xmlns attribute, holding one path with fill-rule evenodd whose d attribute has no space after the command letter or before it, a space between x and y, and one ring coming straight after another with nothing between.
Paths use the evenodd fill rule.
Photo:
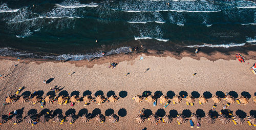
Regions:
<instances>
[{"instance_id":1,"label":"pale pinkish-tan dry sand surrounding the rows of straw umbrellas","mask_svg":"<svg viewBox=\"0 0 256 130\"><path fill-rule=\"evenodd\" d=\"M0 126L0 129L142 129L144 127L147 129L189 129L189 122L178 125L176 119L169 124L160 123L156 125L147 120L144 123L138 124L135 121L135 117L143 108L151 110L153 114L163 110L166 114L169 114L170 110L176 110L179 114L183 110L189 110L191 113L195 113L198 109L202 109L207 114L214 104L210 99L206 104L199 105L198 99L196 99L195 106L186 106L185 100L183 99L181 103L170 104L166 109L163 109L163 104L160 104L159 101L157 102L157 106L154 107L153 104L145 101L136 103L132 100L132 97L135 95L142 95L143 91L151 91L153 94L156 91L161 91L163 95L166 95L168 91L173 91L176 95L179 95L180 91L186 91L188 95L191 95L193 91L197 91L200 95L203 95L206 91L209 91L212 95L215 95L217 91L224 93L235 91L238 93L238 96L243 91L246 91L251 95L249 104L238 105L234 103L228 109L233 111L233 114L237 110L242 110L247 113L247 116L251 110L256 110L256 104L252 101L252 97L256 92L256 76L249 70L256 61L254 59L246 60L246 63L240 63L238 60L218 59L210 61L203 57L200 60L189 57L183 57L179 60L169 56L155 57L142 54L144 59L139 60L140 55L137 55L131 61L124 60L118 62L117 68L115 69L109 69L109 63L95 64L92 68L87 68L86 66L77 67L71 62L56 63L49 61L38 64L34 61L22 63L13 60L1 60L0 74L5 74L4 76L6 76L12 72L0 80L1 104L7 94L16 92L18 86L26 87L21 94L26 91L30 91L31 93L34 91L43 91L44 96L49 92L50 87L56 85L65 86L63 90L68 91L69 94L73 91L78 91L79 96L83 96L83 92L87 90L91 91L93 96L97 91L102 91L105 96L109 91L114 91L117 96L119 96L119 92L121 91L127 92L127 96L120 98L118 102L103 103L102 105L92 103L88 106L83 106L83 102L80 102L74 106L70 106L69 104L58 105L54 102L53 104L47 103L44 108L40 108L39 103L33 105L31 102L15 102L5 107L1 105L2 114L7 115L11 111L23 108L23 118L31 109L37 110L37 113L43 109L53 111L60 109L64 116L66 111L72 111L70 109L74 109L76 114L81 109L88 110L88 113L95 112L95 109L99 109L103 115L105 115L105 111L108 109L112 109L118 115L119 110L122 109L127 114L124 117L119 116L119 122L114 124L109 121L105 121L103 124L96 123L95 120L82 123L80 118L73 124L64 122L62 125L53 123L52 120L47 123L39 122L35 126L25 121L16 125L8 121ZM250 63L247 64L247 62ZM18 66L14 67L14 64L17 63L19 63ZM147 68L150 68L150 70L144 73L144 70ZM73 72L75 72L73 75L68 75L68 73ZM125 76L124 74L126 73L130 74ZM194 73L197 74L193 76ZM43 80L50 78L54 78L50 83L42 83ZM225 104L225 100L217 104L217 111L220 112ZM215 124L208 124L203 118L201 129L253 129L253 127L247 123L237 126L234 126L232 122L223 124L219 119L216 120Z\"/></svg>"}]
</instances>

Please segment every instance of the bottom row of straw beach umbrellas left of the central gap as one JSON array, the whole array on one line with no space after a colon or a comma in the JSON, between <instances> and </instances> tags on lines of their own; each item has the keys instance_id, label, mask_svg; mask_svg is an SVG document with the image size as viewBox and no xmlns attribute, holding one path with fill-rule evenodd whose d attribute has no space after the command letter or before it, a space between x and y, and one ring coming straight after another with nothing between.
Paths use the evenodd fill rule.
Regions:
<instances>
[{"instance_id":1,"label":"bottom row of straw beach umbrellas left of the central gap","mask_svg":"<svg viewBox=\"0 0 256 130\"><path fill-rule=\"evenodd\" d=\"M39 118L38 118L39 117ZM50 119L52 119L53 122L57 122L57 123L61 123L64 121L64 116L62 114L56 114L55 116L53 116L51 118L51 116L49 114L42 114L41 116L37 115L37 114L29 114L28 116L26 116L24 118L25 122L27 123L33 123L35 121L37 121L39 119L40 122L45 123L48 122ZM66 121L71 123L74 123L75 120L78 119L78 116L76 116L75 114L70 114L66 117ZM89 122L92 117L91 114L83 114L80 117L82 122ZM105 121L105 116L102 114L98 114L94 117L95 121L97 123L103 123ZM111 123L116 123L119 120L119 117L116 114L111 114L110 116L107 116L107 119L111 122ZM6 115L1 115L0 116L0 124L4 124L9 120L9 117ZM22 121L22 115L17 114L12 116L11 118L11 122L16 124Z\"/></svg>"}]
</instances>

